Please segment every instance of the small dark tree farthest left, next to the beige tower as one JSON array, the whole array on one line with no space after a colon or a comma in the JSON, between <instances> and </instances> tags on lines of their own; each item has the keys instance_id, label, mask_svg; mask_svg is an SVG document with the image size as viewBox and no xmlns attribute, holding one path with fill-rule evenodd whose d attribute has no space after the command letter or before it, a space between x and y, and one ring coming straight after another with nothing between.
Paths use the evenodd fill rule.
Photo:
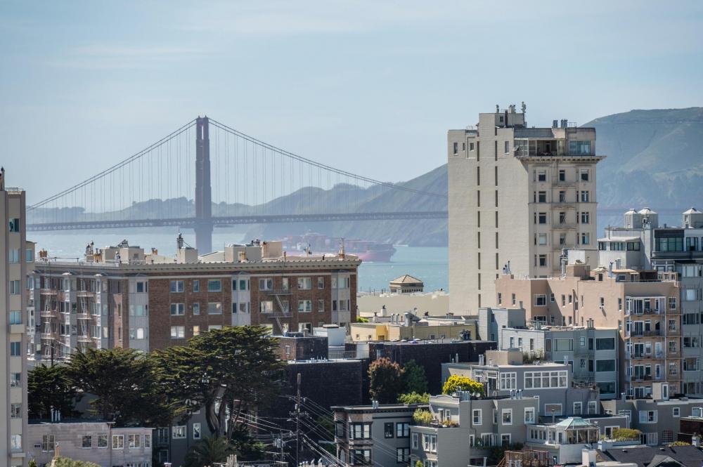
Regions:
<instances>
[{"instance_id":1,"label":"small dark tree farthest left, next to the beige tower","mask_svg":"<svg viewBox=\"0 0 703 467\"><path fill-rule=\"evenodd\" d=\"M48 419L51 409L63 417L76 414L76 389L62 365L47 367L39 364L27 372L27 409L30 419Z\"/></svg>"}]
</instances>

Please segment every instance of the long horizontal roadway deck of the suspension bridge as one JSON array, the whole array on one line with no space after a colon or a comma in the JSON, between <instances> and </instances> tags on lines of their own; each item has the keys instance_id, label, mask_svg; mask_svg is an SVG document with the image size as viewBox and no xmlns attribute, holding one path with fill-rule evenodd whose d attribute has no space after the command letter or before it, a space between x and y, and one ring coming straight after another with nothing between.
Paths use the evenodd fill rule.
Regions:
<instances>
[{"instance_id":1,"label":"long horizontal roadway deck of the suspension bridge","mask_svg":"<svg viewBox=\"0 0 703 467\"><path fill-rule=\"evenodd\" d=\"M334 222L334 221L387 221L401 219L446 219L447 211L400 211L378 213L321 213L321 214L275 214L262 216L213 216L209 219L214 226L236 224L270 224L291 222ZM137 227L164 227L176 225L183 228L193 228L207 222L207 219L163 218L163 219L126 219L122 221L83 221L55 223L27 223L27 230L34 232L55 230L84 230Z\"/></svg>"}]
</instances>

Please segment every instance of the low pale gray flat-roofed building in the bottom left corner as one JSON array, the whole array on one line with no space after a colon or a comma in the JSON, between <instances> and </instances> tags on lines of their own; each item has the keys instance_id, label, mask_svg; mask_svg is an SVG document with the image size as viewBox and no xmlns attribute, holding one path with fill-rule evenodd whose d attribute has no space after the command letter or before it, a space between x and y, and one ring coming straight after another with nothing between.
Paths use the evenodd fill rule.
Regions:
<instances>
[{"instance_id":1,"label":"low pale gray flat-roofed building in the bottom left corner","mask_svg":"<svg viewBox=\"0 0 703 467\"><path fill-rule=\"evenodd\" d=\"M152 428L113 428L105 421L32 422L27 429L27 460L48 466L57 449L62 457L98 466L150 467Z\"/></svg>"}]
</instances>

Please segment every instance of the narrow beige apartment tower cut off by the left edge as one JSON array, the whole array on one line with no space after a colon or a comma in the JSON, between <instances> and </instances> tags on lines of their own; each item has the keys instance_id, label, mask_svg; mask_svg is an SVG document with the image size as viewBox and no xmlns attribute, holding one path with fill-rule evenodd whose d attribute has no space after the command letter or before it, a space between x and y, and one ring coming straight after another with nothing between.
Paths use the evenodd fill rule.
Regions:
<instances>
[{"instance_id":1,"label":"narrow beige apartment tower cut off by the left edge","mask_svg":"<svg viewBox=\"0 0 703 467\"><path fill-rule=\"evenodd\" d=\"M0 332L0 461L1 465L25 466L27 459L27 240L25 192L5 185L0 169L0 303L5 323Z\"/></svg>"}]
</instances>

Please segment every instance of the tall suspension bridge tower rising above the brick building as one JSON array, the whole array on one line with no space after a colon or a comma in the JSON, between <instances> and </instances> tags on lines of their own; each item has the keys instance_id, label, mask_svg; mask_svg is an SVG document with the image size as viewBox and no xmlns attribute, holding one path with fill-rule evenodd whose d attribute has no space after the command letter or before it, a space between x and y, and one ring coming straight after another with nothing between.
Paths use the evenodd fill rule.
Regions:
<instances>
[{"instance_id":1,"label":"tall suspension bridge tower rising above the brick building","mask_svg":"<svg viewBox=\"0 0 703 467\"><path fill-rule=\"evenodd\" d=\"M212 251L212 185L210 185L209 120L195 120L195 247L199 254Z\"/></svg>"}]
</instances>

